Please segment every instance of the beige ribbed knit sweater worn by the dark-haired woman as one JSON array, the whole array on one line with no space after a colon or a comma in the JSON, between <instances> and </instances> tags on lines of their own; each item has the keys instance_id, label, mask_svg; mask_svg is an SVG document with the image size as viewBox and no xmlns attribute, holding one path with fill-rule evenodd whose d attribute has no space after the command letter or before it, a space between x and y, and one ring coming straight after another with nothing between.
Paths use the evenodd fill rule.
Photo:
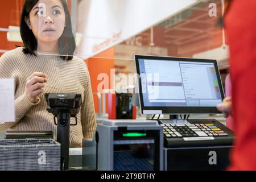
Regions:
<instances>
[{"instance_id":1,"label":"beige ribbed knit sweater worn by the dark-haired woman","mask_svg":"<svg viewBox=\"0 0 256 182\"><path fill-rule=\"evenodd\" d=\"M35 52L36 53L36 52ZM77 126L71 126L70 147L81 147L82 138L92 138L96 129L92 88L86 64L78 57L63 61L57 56L24 54L22 47L6 52L0 58L0 78L14 78L15 122L0 124L0 131L53 131L57 127L48 113L44 93L80 93L82 106L77 114ZM34 72L46 73L48 81L40 100L34 104L27 98L26 81ZM1 116L0 116L1 117ZM75 118L71 118L75 123Z\"/></svg>"}]
</instances>

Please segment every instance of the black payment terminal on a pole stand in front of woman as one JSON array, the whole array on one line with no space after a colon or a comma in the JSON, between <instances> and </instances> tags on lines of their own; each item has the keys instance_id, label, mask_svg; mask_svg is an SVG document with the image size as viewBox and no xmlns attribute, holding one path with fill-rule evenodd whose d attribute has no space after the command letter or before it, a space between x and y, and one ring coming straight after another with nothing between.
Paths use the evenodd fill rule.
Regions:
<instances>
[{"instance_id":1,"label":"black payment terminal on a pole stand in front of woman","mask_svg":"<svg viewBox=\"0 0 256 182\"><path fill-rule=\"evenodd\" d=\"M70 126L77 125L76 114L82 105L81 94L74 93L46 93L46 102L49 113L54 115L57 125L57 142L61 144L61 170L68 169L69 163L69 131ZM76 118L76 123L71 124L70 118ZM57 122L56 122L57 118Z\"/></svg>"}]
</instances>

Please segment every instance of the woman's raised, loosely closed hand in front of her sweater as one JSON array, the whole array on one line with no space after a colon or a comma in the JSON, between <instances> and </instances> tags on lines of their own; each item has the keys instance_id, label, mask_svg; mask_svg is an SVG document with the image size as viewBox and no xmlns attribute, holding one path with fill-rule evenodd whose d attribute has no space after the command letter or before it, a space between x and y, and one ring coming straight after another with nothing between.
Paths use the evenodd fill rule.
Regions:
<instances>
[{"instance_id":1,"label":"woman's raised, loosely closed hand in front of her sweater","mask_svg":"<svg viewBox=\"0 0 256 182\"><path fill-rule=\"evenodd\" d=\"M44 92L44 83L47 82L47 76L44 73L34 72L27 78L26 93L31 102L36 103L41 93Z\"/></svg>"}]
</instances>

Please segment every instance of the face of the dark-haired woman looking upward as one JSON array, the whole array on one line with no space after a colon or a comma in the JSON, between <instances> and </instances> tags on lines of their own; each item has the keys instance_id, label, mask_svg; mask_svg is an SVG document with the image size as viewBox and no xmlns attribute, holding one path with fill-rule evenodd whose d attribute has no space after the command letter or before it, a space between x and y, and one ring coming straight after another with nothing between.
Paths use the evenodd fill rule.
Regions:
<instances>
[{"instance_id":1,"label":"face of the dark-haired woman looking upward","mask_svg":"<svg viewBox=\"0 0 256 182\"><path fill-rule=\"evenodd\" d=\"M57 42L65 27L65 11L60 0L39 0L26 19L38 43Z\"/></svg>"}]
</instances>

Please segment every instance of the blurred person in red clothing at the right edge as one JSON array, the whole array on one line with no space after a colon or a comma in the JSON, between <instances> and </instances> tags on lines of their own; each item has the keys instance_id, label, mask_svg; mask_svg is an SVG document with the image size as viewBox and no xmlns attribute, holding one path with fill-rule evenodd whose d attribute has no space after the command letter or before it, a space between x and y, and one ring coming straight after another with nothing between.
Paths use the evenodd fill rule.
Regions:
<instances>
[{"instance_id":1,"label":"blurred person in red clothing at the right edge","mask_svg":"<svg viewBox=\"0 0 256 182\"><path fill-rule=\"evenodd\" d=\"M225 29L230 45L232 101L226 98L218 109L232 111L235 146L230 170L256 170L256 1L229 1ZM232 105L232 110L231 110Z\"/></svg>"}]
</instances>

